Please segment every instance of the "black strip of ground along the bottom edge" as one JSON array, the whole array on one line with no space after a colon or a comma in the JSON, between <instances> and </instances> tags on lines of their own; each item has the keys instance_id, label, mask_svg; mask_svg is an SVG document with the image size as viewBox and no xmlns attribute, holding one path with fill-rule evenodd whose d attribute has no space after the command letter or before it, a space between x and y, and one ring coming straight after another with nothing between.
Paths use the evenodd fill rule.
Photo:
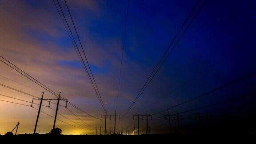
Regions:
<instances>
[{"instance_id":1,"label":"black strip of ground along the bottom edge","mask_svg":"<svg viewBox=\"0 0 256 144\"><path fill-rule=\"evenodd\" d=\"M7 144L8 142L25 142L25 143L242 143L255 144L255 135L179 135L179 134L154 134L154 135L33 135L20 134L13 136L0 136L0 144Z\"/></svg>"}]
</instances>

